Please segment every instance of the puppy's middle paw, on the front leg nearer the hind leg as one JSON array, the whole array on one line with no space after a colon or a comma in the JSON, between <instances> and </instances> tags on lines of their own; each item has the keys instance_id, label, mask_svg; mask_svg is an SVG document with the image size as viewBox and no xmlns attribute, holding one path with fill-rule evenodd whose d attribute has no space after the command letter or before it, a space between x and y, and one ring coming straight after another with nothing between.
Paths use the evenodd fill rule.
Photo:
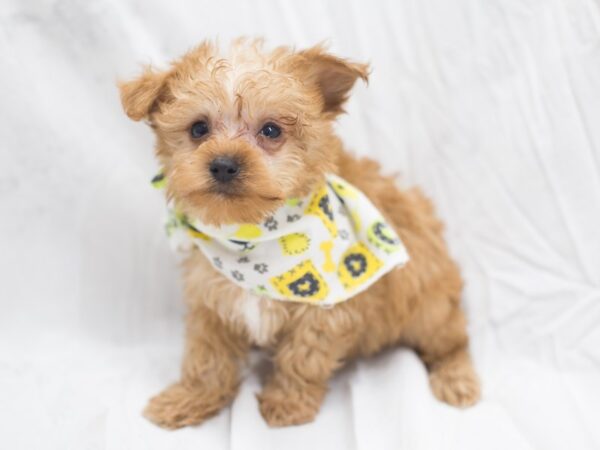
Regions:
<instances>
[{"instance_id":1,"label":"puppy's middle paw, on the front leg nearer the hind leg","mask_svg":"<svg viewBox=\"0 0 600 450\"><path fill-rule=\"evenodd\" d=\"M260 413L271 427L312 422L321 406L319 397L310 392L285 392L269 388L257 395Z\"/></svg>"}]
</instances>

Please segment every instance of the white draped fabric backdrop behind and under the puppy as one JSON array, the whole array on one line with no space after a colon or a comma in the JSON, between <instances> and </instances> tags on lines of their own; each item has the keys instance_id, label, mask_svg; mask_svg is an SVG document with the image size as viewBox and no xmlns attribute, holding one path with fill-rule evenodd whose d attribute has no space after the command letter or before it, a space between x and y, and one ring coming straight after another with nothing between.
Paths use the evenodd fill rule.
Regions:
<instances>
[{"instance_id":1,"label":"white draped fabric backdrop behind and under the puppy","mask_svg":"<svg viewBox=\"0 0 600 450\"><path fill-rule=\"evenodd\" d=\"M270 430L253 367L231 408L167 432L182 306L152 137L117 77L206 37L369 60L339 131L447 223L483 400L429 392L408 350L351 364L316 422ZM0 2L0 447L600 446L600 8L592 0Z\"/></svg>"}]
</instances>

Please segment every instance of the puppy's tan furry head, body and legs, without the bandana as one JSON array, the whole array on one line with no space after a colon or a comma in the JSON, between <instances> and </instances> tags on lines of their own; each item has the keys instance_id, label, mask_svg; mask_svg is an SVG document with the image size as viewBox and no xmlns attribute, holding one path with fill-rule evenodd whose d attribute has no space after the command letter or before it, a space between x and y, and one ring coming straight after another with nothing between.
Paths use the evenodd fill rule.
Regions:
<instances>
[{"instance_id":1,"label":"puppy's tan furry head, body and legs, without the bandana","mask_svg":"<svg viewBox=\"0 0 600 450\"><path fill-rule=\"evenodd\" d=\"M150 401L151 420L176 428L219 411L235 396L240 365L253 345L274 358L273 374L258 395L270 425L312 420L344 361L398 344L420 354L439 399L457 406L477 401L479 382L460 307L462 280L431 204L418 190L400 191L377 163L344 151L331 129L366 69L319 47L265 53L256 43L241 42L229 58L219 59L217 49L204 44L170 71L148 71L122 85L128 115L148 118L155 129L168 195L186 214L216 225L256 223L285 198L306 194L325 173L335 173L370 198L411 257L350 300L320 308L246 292L192 250L184 266L182 377ZM196 128L186 138L190 126ZM241 167L233 187L228 180L223 188L207 174L211 161L224 154Z\"/></svg>"}]
</instances>

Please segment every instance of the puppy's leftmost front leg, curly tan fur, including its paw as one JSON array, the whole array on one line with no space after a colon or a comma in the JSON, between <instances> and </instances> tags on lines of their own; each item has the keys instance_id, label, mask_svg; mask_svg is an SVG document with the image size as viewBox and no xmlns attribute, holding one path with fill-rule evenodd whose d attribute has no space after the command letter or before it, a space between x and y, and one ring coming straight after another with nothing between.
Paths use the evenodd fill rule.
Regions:
<instances>
[{"instance_id":1,"label":"puppy's leftmost front leg, curly tan fur, including its paw","mask_svg":"<svg viewBox=\"0 0 600 450\"><path fill-rule=\"evenodd\" d=\"M181 380L153 397L144 415L174 429L216 414L237 392L246 351L245 340L234 336L213 311L196 307L187 317Z\"/></svg>"}]
</instances>

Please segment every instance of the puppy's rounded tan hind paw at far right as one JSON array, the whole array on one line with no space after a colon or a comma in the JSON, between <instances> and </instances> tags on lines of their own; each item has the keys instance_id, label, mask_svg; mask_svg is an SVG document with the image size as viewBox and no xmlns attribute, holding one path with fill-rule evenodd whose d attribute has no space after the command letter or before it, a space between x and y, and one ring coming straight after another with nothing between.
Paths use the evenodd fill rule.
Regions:
<instances>
[{"instance_id":1,"label":"puppy's rounded tan hind paw at far right","mask_svg":"<svg viewBox=\"0 0 600 450\"><path fill-rule=\"evenodd\" d=\"M481 396L479 378L470 363L442 364L429 374L433 394L452 406L472 406Z\"/></svg>"}]
</instances>

